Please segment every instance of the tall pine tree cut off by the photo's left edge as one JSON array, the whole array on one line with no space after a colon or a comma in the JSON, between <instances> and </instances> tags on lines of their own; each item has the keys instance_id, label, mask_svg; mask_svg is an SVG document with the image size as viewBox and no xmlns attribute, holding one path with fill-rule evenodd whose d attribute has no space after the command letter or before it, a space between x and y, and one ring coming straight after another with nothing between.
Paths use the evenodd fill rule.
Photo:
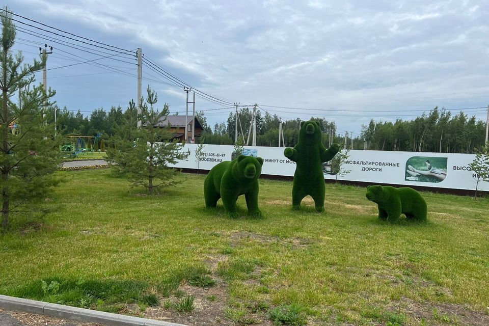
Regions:
<instances>
[{"instance_id":1,"label":"tall pine tree cut off by the photo's left edge","mask_svg":"<svg viewBox=\"0 0 489 326\"><path fill-rule=\"evenodd\" d=\"M12 54L16 32L8 7L0 12L0 19L0 192L2 227L8 230L12 213L43 211L40 200L58 182L52 173L58 169L61 155L54 125L46 123L42 110L42 104L54 92L45 94L42 85L33 85L34 72L42 69L46 57L22 65L21 52ZM20 105L17 105L11 97L19 89Z\"/></svg>"}]
</instances>

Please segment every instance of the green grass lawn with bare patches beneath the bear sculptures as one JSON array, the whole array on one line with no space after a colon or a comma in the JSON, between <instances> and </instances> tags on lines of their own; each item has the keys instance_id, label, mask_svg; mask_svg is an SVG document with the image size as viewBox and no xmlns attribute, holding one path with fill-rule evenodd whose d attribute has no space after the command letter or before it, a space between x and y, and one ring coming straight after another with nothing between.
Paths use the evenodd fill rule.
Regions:
<instances>
[{"instance_id":1,"label":"green grass lawn with bare patches beneath the bear sculptures","mask_svg":"<svg viewBox=\"0 0 489 326\"><path fill-rule=\"evenodd\" d=\"M0 235L2 294L186 324L489 324L487 198L425 192L427 223L389 224L365 188L327 184L318 214L259 180L264 218L240 198L228 219L202 175L150 197L108 170L59 173L55 211Z\"/></svg>"}]
</instances>

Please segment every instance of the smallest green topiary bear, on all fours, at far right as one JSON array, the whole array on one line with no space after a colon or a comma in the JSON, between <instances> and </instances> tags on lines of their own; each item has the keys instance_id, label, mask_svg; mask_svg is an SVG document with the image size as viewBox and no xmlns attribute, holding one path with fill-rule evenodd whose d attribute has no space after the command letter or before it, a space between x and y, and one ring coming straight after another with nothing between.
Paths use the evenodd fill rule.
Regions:
<instances>
[{"instance_id":1,"label":"smallest green topiary bear, on all fours, at far right","mask_svg":"<svg viewBox=\"0 0 489 326\"><path fill-rule=\"evenodd\" d=\"M369 185L366 197L377 204L380 219L394 222L403 213L408 219L426 221L426 201L413 188Z\"/></svg>"}]
</instances>

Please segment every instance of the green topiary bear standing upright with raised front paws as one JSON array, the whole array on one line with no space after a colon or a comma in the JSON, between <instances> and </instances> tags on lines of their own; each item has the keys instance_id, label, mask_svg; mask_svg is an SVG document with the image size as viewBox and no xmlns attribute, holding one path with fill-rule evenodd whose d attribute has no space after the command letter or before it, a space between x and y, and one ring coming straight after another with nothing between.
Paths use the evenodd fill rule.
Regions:
<instances>
[{"instance_id":1,"label":"green topiary bear standing upright with raised front paws","mask_svg":"<svg viewBox=\"0 0 489 326\"><path fill-rule=\"evenodd\" d=\"M322 144L322 133L315 121L301 123L299 140L294 148L287 147L284 155L296 162L294 184L292 187L292 207L299 209L304 197L310 195L316 205L316 211L324 210L324 175L322 163L331 160L340 147L333 144L326 149Z\"/></svg>"}]
</instances>

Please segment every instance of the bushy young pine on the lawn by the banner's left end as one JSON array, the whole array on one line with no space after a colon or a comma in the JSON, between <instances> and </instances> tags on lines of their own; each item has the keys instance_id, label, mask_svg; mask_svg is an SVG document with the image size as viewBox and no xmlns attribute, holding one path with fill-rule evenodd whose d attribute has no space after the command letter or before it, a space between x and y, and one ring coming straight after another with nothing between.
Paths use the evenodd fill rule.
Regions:
<instances>
[{"instance_id":1,"label":"bushy young pine on the lawn by the banner's left end","mask_svg":"<svg viewBox=\"0 0 489 326\"><path fill-rule=\"evenodd\" d=\"M133 122L127 121L123 128L116 128L122 133L117 135L119 150L110 151L109 157L116 171L126 175L133 186L143 186L152 195L161 188L177 184L174 177L179 171L168 164L186 159L189 152L181 152L183 144L171 141L170 126L157 126L164 123L163 117L168 116L170 109L165 103L158 112L154 107L157 94L149 86L147 92L146 103L142 106L143 126L136 128Z\"/></svg>"}]
</instances>

